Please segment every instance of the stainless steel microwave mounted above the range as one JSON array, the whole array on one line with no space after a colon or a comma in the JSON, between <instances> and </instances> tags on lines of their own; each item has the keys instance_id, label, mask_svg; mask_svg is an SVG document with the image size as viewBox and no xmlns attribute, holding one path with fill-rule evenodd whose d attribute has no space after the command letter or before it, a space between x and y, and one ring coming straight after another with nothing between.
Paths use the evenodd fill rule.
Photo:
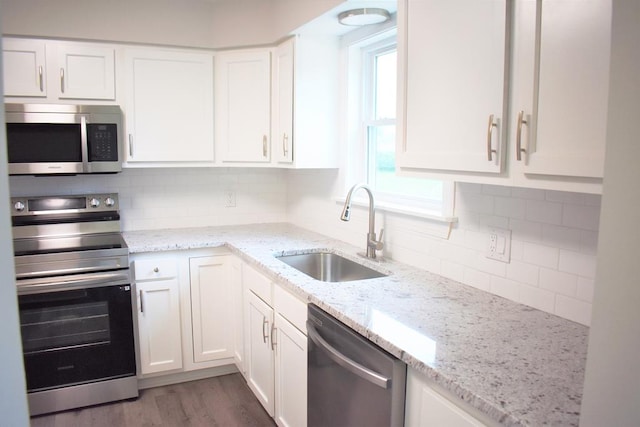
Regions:
<instances>
[{"instance_id":1,"label":"stainless steel microwave mounted above the range","mask_svg":"<svg viewBox=\"0 0 640 427\"><path fill-rule=\"evenodd\" d=\"M115 105L5 104L9 175L122 170L122 111Z\"/></svg>"}]
</instances>

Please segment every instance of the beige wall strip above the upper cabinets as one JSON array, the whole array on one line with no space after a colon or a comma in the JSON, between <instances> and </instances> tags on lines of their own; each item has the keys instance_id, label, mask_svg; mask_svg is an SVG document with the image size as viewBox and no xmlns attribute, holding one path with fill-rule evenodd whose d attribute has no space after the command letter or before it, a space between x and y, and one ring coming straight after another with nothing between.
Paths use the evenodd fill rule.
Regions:
<instances>
[{"instance_id":1,"label":"beige wall strip above the upper cabinets","mask_svg":"<svg viewBox=\"0 0 640 427\"><path fill-rule=\"evenodd\" d=\"M4 33L200 48L271 44L341 0L0 0Z\"/></svg>"}]
</instances>

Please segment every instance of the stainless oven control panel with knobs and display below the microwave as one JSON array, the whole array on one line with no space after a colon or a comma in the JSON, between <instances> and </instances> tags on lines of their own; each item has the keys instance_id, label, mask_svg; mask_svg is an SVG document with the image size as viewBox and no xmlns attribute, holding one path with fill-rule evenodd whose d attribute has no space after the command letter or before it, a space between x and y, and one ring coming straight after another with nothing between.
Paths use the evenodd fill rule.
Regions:
<instances>
[{"instance_id":1,"label":"stainless oven control panel with knobs and display below the microwave","mask_svg":"<svg viewBox=\"0 0 640 427\"><path fill-rule=\"evenodd\" d=\"M11 216L114 212L119 209L116 193L12 197L11 206Z\"/></svg>"}]
</instances>

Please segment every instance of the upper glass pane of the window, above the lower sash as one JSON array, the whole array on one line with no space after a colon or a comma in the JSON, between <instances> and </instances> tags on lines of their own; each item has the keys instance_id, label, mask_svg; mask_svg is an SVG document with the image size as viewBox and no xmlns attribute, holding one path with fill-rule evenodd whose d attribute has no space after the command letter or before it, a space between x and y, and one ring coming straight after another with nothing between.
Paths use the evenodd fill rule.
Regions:
<instances>
[{"instance_id":1,"label":"upper glass pane of the window, above the lower sash","mask_svg":"<svg viewBox=\"0 0 640 427\"><path fill-rule=\"evenodd\" d=\"M396 117L396 51L375 57L374 119Z\"/></svg>"}]
</instances>

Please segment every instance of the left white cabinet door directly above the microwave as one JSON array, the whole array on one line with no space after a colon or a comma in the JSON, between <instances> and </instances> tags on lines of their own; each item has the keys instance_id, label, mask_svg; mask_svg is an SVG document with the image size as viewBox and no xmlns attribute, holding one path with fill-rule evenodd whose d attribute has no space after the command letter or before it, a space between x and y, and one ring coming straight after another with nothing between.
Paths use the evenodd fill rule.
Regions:
<instances>
[{"instance_id":1,"label":"left white cabinet door directly above the microwave","mask_svg":"<svg viewBox=\"0 0 640 427\"><path fill-rule=\"evenodd\" d=\"M47 96L45 53L41 40L2 40L4 96Z\"/></svg>"}]
</instances>

